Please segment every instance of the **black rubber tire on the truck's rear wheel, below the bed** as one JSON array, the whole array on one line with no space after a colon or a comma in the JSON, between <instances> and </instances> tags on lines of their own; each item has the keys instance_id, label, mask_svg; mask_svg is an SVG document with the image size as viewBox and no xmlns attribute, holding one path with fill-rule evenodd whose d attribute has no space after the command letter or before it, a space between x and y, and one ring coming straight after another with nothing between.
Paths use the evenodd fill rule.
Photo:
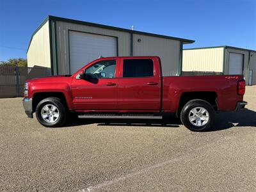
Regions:
<instances>
[{"instance_id":1,"label":"black rubber tire on the truck's rear wheel, below the bed","mask_svg":"<svg viewBox=\"0 0 256 192\"><path fill-rule=\"evenodd\" d=\"M202 109L203 112L204 109L206 109L207 112L204 112L204 114L202 114L199 113L199 110L198 113L194 115L195 111L197 111L198 109ZM191 121L189 120L189 116L191 117ZM207 116L209 116L209 118L207 118ZM193 121L194 118L196 119ZM203 118L206 120L203 120ZM205 100L190 100L182 108L180 113L180 120L182 124L191 131L207 131L214 124L215 111L212 108L211 104L209 104L209 102Z\"/></svg>"}]
</instances>

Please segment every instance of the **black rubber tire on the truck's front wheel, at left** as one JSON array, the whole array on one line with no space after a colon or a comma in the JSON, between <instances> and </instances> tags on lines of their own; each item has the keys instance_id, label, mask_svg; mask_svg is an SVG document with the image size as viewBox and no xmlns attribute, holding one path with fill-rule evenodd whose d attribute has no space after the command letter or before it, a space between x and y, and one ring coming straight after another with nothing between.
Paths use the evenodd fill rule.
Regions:
<instances>
[{"instance_id":1,"label":"black rubber tire on the truck's front wheel, at left","mask_svg":"<svg viewBox=\"0 0 256 192\"><path fill-rule=\"evenodd\" d=\"M58 110L58 118L55 118L55 122L47 122L47 119L41 115L42 108L46 105L55 106ZM50 114L51 115L51 114ZM45 127L60 127L65 124L67 118L67 108L61 103L61 100L57 97L48 97L41 100L36 106L36 118L38 122Z\"/></svg>"}]
</instances>

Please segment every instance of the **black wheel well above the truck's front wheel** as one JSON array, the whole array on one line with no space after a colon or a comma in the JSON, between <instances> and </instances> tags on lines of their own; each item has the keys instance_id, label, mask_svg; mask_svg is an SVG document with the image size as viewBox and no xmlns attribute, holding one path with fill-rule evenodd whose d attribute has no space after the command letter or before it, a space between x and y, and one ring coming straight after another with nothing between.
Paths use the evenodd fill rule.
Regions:
<instances>
[{"instance_id":1,"label":"black wheel well above the truck's front wheel","mask_svg":"<svg viewBox=\"0 0 256 192\"><path fill-rule=\"evenodd\" d=\"M43 99L45 99L47 97L57 97L57 98L60 98L61 103L65 107L67 107L67 100L66 100L66 97L65 97L64 93L61 93L61 92L39 92L39 93L35 93L33 95L33 103L32 103L33 112L35 112L37 104L41 100L43 100Z\"/></svg>"}]
</instances>

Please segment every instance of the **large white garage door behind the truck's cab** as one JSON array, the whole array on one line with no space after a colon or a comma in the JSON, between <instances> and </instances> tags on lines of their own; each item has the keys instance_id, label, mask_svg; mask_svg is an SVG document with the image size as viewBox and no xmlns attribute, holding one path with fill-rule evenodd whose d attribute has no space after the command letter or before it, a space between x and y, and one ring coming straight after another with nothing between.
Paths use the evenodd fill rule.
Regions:
<instances>
[{"instance_id":1,"label":"large white garage door behind the truck's cab","mask_svg":"<svg viewBox=\"0 0 256 192\"><path fill-rule=\"evenodd\" d=\"M76 31L69 32L70 73L99 58L116 56L116 38Z\"/></svg>"}]
</instances>

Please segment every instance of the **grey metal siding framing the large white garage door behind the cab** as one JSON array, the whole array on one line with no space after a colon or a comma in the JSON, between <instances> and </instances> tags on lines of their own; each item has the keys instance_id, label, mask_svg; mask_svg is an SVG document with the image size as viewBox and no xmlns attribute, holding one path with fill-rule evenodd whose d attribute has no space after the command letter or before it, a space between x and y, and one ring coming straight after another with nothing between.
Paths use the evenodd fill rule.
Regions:
<instances>
[{"instance_id":1,"label":"grey metal siding framing the large white garage door behind the cab","mask_svg":"<svg viewBox=\"0 0 256 192\"><path fill-rule=\"evenodd\" d=\"M69 38L68 31L80 31L84 33L93 33L97 35L115 36L118 40L118 56L130 56L131 54L131 34L115 31L111 29L102 29L92 26L72 24L68 22L57 21L57 49L59 74L70 74L70 56L69 56Z\"/></svg>"}]
</instances>

